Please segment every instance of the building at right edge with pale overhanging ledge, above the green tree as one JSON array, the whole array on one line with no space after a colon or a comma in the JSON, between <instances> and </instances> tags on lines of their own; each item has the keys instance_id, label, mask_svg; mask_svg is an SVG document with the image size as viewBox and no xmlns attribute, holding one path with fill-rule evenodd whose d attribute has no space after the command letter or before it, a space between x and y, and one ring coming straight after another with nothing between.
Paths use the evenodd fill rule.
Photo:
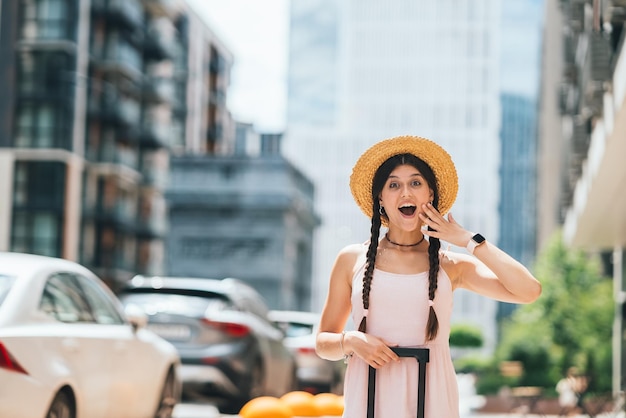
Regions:
<instances>
[{"instance_id":1,"label":"building at right edge with pale overhanging ledge, above the green tree","mask_svg":"<svg viewBox=\"0 0 626 418\"><path fill-rule=\"evenodd\" d=\"M552 173L562 174L560 187L544 178L559 199L559 210L547 213L556 212L563 221L569 245L611 255L605 259L610 260L615 282L613 388L617 393L624 390L626 375L626 195L622 190L626 184L626 3L547 3L542 106L559 117L546 121L541 142L546 149L565 151L560 166L552 168ZM550 67L550 63L557 65ZM559 131L561 135L554 136ZM548 144L555 138L559 145Z\"/></svg>"}]
</instances>

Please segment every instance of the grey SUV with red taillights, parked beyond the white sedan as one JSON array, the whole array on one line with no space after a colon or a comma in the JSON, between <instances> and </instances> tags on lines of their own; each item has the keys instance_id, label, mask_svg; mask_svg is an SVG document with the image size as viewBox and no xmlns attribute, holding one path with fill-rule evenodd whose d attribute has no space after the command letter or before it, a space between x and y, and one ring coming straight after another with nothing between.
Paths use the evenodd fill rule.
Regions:
<instances>
[{"instance_id":1,"label":"grey SUV with red taillights, parked beyond the white sedan","mask_svg":"<svg viewBox=\"0 0 626 418\"><path fill-rule=\"evenodd\" d=\"M137 276L120 298L142 308L148 328L178 349L184 398L218 396L222 412L237 413L252 398L296 387L284 334L268 319L262 296L243 281Z\"/></svg>"}]
</instances>

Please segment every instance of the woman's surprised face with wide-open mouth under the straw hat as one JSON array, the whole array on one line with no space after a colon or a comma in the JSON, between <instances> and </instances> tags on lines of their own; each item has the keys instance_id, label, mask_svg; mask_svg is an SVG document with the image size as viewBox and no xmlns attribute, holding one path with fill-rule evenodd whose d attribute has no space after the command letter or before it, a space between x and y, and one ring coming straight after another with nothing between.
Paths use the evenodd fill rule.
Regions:
<instances>
[{"instance_id":1,"label":"woman's surprised face with wide-open mouth under the straw hat","mask_svg":"<svg viewBox=\"0 0 626 418\"><path fill-rule=\"evenodd\" d=\"M385 182L380 194L380 205L385 208L389 226L396 225L412 231L422 225L418 213L422 204L433 200L433 191L412 165L396 167Z\"/></svg>"}]
</instances>

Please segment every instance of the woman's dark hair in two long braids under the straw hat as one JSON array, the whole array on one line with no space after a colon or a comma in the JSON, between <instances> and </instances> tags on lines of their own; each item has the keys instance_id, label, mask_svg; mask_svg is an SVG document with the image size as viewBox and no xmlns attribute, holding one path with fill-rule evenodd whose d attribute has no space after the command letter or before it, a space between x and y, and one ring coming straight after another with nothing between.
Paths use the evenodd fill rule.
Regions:
<instances>
[{"instance_id":1,"label":"woman's dark hair in two long braids under the straw hat","mask_svg":"<svg viewBox=\"0 0 626 418\"><path fill-rule=\"evenodd\" d=\"M438 209L439 205L439 191L437 189L437 179L432 169L420 158L412 154L400 154L389 158L387 161L381 164L374 174L372 179L372 228L370 245L367 250L367 260L365 264L365 273L363 274L363 309L367 312L369 310L369 296L370 289L372 287L372 278L374 275L374 266L376 264L376 252L378 251L378 238L380 236L380 228L382 225L381 212L384 216L384 208L380 207L379 196L383 190L387 179L391 172L398 166L403 164L409 164L417 168L422 174L428 186L433 191L432 205L435 209ZM387 220L385 218L385 220ZM433 229L428 227L429 231ZM429 301L435 300L435 292L437 291L437 276L439 275L439 250L441 248L441 242L438 238L428 238L428 299ZM363 315L363 319L359 324L359 331L365 332L367 329L367 314ZM426 340L433 340L437 336L439 330L439 320L437 319L437 313L435 308L430 306L428 313L428 322L426 324Z\"/></svg>"}]
</instances>

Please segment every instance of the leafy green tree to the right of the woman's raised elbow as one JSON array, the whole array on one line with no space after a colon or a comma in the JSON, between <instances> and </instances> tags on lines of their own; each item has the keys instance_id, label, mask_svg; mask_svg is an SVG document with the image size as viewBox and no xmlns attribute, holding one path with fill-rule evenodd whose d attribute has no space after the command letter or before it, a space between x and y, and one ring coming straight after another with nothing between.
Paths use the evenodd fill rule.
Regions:
<instances>
[{"instance_id":1,"label":"leafy green tree to the right of the woman's raised elbow","mask_svg":"<svg viewBox=\"0 0 626 418\"><path fill-rule=\"evenodd\" d=\"M503 324L497 361L521 361L521 385L554 387L577 366L591 378L591 390L610 390L612 281L599 258L568 248L557 233L539 255L535 276L542 295Z\"/></svg>"}]
</instances>

